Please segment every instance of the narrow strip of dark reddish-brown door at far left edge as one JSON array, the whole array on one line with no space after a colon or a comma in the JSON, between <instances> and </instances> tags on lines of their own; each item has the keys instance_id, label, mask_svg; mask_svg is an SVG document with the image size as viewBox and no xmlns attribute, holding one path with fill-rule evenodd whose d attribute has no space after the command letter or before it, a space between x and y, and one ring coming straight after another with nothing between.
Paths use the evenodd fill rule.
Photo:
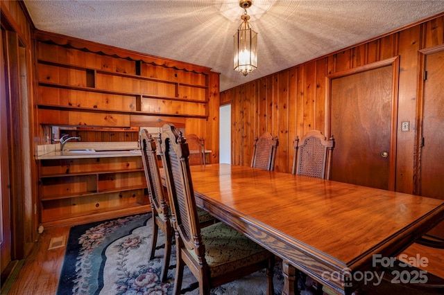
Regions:
<instances>
[{"instance_id":1,"label":"narrow strip of dark reddish-brown door at far left edge","mask_svg":"<svg viewBox=\"0 0 444 295\"><path fill-rule=\"evenodd\" d=\"M5 274L6 267L11 262L11 224L10 224L10 193L9 193L9 156L8 156L8 111L6 86L8 85L8 71L6 71L6 62L3 54L4 30L1 30L0 41L0 265L1 274ZM6 274L5 274L6 275ZM3 284L3 276L2 282Z\"/></svg>"}]
</instances>

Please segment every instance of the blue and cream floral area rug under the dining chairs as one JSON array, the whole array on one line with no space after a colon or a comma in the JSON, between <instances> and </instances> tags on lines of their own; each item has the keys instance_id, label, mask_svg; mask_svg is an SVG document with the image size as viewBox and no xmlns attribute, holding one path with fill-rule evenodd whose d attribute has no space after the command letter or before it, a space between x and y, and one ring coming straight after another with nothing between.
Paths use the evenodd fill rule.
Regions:
<instances>
[{"instance_id":1,"label":"blue and cream floral area rug under the dining chairs","mask_svg":"<svg viewBox=\"0 0 444 295\"><path fill-rule=\"evenodd\" d=\"M69 232L57 295L67 294L172 294L176 251L172 249L168 280L160 282L164 235L159 230L157 250L148 259L151 247L151 213L132 215L105 222L74 226ZM275 294L281 294L282 270L276 263ZM182 291L196 279L185 267ZM212 289L211 294L265 294L265 270Z\"/></svg>"}]
</instances>

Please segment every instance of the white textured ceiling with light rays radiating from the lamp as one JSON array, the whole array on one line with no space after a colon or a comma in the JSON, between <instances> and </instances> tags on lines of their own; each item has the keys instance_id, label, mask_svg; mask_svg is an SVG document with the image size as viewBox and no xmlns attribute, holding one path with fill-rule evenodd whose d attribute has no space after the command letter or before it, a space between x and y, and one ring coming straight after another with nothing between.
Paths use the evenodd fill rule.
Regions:
<instances>
[{"instance_id":1,"label":"white textured ceiling with light rays radiating from the lamp","mask_svg":"<svg viewBox=\"0 0 444 295\"><path fill-rule=\"evenodd\" d=\"M238 0L31 1L35 27L221 73L221 91L444 12L434 1L253 0L258 69L233 71Z\"/></svg>"}]
</instances>

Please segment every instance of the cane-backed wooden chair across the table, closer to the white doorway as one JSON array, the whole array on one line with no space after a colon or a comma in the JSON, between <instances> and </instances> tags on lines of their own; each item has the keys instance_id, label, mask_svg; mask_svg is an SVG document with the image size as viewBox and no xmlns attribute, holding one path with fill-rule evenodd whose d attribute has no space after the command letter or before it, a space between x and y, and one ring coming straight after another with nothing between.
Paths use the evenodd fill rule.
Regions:
<instances>
[{"instance_id":1,"label":"cane-backed wooden chair across the table, closer to the white doorway","mask_svg":"<svg viewBox=\"0 0 444 295\"><path fill-rule=\"evenodd\" d=\"M253 144L251 167L273 171L278 145L278 136L273 137L271 133L264 132L261 136L256 137Z\"/></svg>"}]
</instances>

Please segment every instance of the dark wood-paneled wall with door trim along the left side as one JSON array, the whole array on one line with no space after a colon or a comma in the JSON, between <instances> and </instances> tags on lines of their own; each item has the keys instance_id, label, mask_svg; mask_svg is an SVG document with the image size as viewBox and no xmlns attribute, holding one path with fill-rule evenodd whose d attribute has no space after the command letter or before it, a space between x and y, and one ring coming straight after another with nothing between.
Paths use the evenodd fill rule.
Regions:
<instances>
[{"instance_id":1,"label":"dark wood-paneled wall with door trim along the left side","mask_svg":"<svg viewBox=\"0 0 444 295\"><path fill-rule=\"evenodd\" d=\"M1 145L8 148L2 154L2 161L9 163L9 171L2 170L8 178L10 208L4 206L3 212L10 210L9 228L3 233L11 233L12 260L24 258L31 251L37 238L37 169L33 161L35 143L35 116L33 93L33 26L28 21L26 8L22 1L1 1L1 31L4 64L1 79L4 79L6 95L1 97L6 105L8 118L2 118L8 129L7 138L1 138ZM4 75L3 75L4 74ZM3 105L2 104L2 105ZM37 150L37 145L35 145ZM3 166L4 167L4 166ZM3 214L2 212L2 214ZM9 227L9 226L8 226ZM3 261L2 261L3 262Z\"/></svg>"}]
</instances>

